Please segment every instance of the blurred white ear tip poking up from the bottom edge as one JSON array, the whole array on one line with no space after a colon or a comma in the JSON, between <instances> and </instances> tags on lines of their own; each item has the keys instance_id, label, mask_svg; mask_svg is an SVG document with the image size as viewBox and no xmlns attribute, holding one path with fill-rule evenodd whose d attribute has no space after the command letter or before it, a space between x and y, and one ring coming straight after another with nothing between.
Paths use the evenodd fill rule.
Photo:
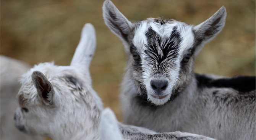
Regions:
<instances>
[{"instance_id":1,"label":"blurred white ear tip poking up from the bottom edge","mask_svg":"<svg viewBox=\"0 0 256 140\"><path fill-rule=\"evenodd\" d=\"M123 140L117 118L110 108L102 111L99 132L101 140Z\"/></svg>"}]
</instances>

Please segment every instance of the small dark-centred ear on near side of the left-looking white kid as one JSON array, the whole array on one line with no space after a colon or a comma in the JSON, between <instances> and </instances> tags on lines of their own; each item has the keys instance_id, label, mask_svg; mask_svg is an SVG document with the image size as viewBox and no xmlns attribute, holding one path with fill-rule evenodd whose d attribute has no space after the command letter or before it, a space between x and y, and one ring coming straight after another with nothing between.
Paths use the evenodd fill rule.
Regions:
<instances>
[{"instance_id":1,"label":"small dark-centred ear on near side of the left-looking white kid","mask_svg":"<svg viewBox=\"0 0 256 140\"><path fill-rule=\"evenodd\" d=\"M55 91L52 84L47 80L44 74L40 71L34 71L32 74L32 81L43 102L46 105L53 105L53 96Z\"/></svg>"}]
</instances>

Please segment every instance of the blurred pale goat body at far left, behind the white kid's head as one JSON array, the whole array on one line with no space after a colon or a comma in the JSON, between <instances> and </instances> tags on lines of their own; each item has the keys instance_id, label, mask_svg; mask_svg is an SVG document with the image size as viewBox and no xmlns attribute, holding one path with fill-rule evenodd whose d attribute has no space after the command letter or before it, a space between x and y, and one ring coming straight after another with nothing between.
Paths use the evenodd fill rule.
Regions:
<instances>
[{"instance_id":1,"label":"blurred pale goat body at far left, behind the white kid's head","mask_svg":"<svg viewBox=\"0 0 256 140\"><path fill-rule=\"evenodd\" d=\"M1 140L43 140L42 137L29 136L19 132L14 126L13 113L19 103L16 99L20 88L18 79L27 72L29 64L0 55L0 96L1 96Z\"/></svg>"}]
</instances>

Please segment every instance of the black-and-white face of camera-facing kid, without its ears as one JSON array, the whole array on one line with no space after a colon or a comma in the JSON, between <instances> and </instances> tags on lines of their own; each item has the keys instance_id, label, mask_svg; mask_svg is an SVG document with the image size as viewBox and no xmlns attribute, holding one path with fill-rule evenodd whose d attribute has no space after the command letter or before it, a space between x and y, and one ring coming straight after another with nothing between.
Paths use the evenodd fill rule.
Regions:
<instances>
[{"instance_id":1,"label":"black-and-white face of camera-facing kid, without its ears","mask_svg":"<svg viewBox=\"0 0 256 140\"><path fill-rule=\"evenodd\" d=\"M147 94L152 103L162 105L191 79L192 27L173 20L149 18L137 23L131 36L134 82L143 96Z\"/></svg>"}]
</instances>

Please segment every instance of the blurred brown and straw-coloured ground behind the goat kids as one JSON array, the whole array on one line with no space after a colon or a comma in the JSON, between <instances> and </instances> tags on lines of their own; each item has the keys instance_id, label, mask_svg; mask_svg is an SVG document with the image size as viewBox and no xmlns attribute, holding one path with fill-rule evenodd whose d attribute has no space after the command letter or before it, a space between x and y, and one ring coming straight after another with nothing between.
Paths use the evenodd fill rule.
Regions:
<instances>
[{"instance_id":1,"label":"blurred brown and straw-coloured ground behind the goat kids","mask_svg":"<svg viewBox=\"0 0 256 140\"><path fill-rule=\"evenodd\" d=\"M55 61L69 65L81 29L92 23L97 48L91 63L93 87L113 109L122 113L118 95L125 72L122 42L104 24L104 0L1 0L1 55L31 65ZM255 76L255 0L112 0L132 22L149 17L199 24L221 6L227 9L222 32L199 54L195 71L223 76Z\"/></svg>"}]
</instances>

